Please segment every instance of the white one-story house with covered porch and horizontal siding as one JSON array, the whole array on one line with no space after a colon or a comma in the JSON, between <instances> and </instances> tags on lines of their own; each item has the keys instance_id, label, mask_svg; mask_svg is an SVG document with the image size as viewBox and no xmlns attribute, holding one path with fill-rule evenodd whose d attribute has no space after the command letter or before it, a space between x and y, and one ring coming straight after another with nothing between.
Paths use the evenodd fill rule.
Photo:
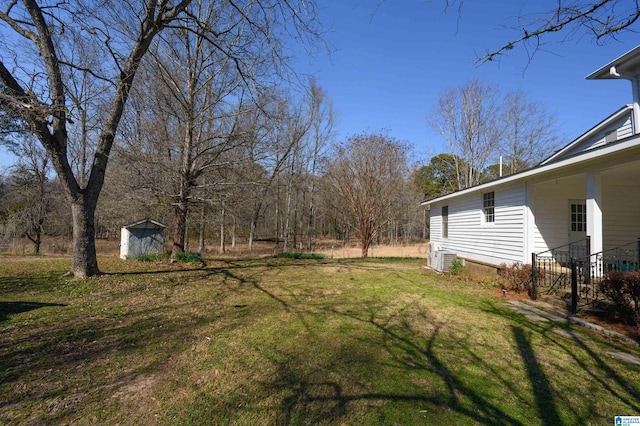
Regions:
<instances>
[{"instance_id":1,"label":"white one-story house with covered porch and horizontal siding","mask_svg":"<svg viewBox=\"0 0 640 426\"><path fill-rule=\"evenodd\" d=\"M436 251L498 266L581 240L599 253L640 237L640 46L587 76L614 78L631 81L633 103L536 167L422 203L430 266Z\"/></svg>"}]
</instances>

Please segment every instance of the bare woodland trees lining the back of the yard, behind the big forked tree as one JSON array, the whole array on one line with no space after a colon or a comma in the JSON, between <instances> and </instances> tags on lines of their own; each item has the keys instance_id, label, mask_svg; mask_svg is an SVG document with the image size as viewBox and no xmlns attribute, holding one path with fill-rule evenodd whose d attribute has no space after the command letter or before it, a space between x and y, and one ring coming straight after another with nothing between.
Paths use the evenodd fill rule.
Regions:
<instances>
[{"instance_id":1,"label":"bare woodland trees lining the back of the yard, behind the big forked tree","mask_svg":"<svg viewBox=\"0 0 640 426\"><path fill-rule=\"evenodd\" d=\"M186 42L185 34L178 36ZM472 80L439 96L427 121L450 150L418 166L411 146L384 132L337 141L331 99L315 80L302 95L269 88L223 99L232 78L188 80L190 70L206 68L195 53L141 67L96 208L98 237L118 238L123 224L151 217L170 225L173 255L207 245L225 253L239 242L251 250L257 240L312 250L321 240L357 238L367 256L374 242L427 238L423 199L498 178L492 160L501 155L503 174L533 166L557 141L541 104ZM75 167L84 178L91 138L82 132L93 131L84 112L92 108L74 112L82 123ZM33 136L4 144L20 160L0 187L3 237L26 236L38 252L43 236L72 231L55 195L61 183Z\"/></svg>"}]
</instances>

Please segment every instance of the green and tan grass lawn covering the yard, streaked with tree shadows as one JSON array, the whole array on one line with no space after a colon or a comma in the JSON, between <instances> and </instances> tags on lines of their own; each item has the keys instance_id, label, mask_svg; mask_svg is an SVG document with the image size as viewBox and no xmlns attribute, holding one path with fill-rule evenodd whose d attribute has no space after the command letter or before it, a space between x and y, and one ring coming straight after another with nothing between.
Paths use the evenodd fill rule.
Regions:
<instances>
[{"instance_id":1,"label":"green and tan grass lawn covering the yard, streaked with tree shadows","mask_svg":"<svg viewBox=\"0 0 640 426\"><path fill-rule=\"evenodd\" d=\"M635 346L422 260L0 257L0 424L602 425Z\"/></svg>"}]
</instances>

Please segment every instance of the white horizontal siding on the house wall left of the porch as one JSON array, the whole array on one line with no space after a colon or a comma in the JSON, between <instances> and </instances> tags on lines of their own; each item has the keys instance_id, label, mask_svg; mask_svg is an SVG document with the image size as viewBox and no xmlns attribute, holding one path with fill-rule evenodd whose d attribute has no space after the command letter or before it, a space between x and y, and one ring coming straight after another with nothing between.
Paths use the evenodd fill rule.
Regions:
<instances>
[{"instance_id":1,"label":"white horizontal siding on the house wall left of the porch","mask_svg":"<svg viewBox=\"0 0 640 426\"><path fill-rule=\"evenodd\" d=\"M524 253L524 185L495 191L495 223L484 223L482 197L469 194L449 204L449 238L443 248L495 265L527 261ZM432 224L441 220L432 220ZM440 235L440 234L438 234Z\"/></svg>"}]
</instances>

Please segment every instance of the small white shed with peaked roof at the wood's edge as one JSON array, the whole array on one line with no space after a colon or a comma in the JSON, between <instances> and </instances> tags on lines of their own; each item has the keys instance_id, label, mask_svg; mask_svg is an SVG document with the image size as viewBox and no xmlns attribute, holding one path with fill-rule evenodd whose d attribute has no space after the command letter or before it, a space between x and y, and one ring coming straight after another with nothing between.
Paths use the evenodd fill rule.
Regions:
<instances>
[{"instance_id":1,"label":"small white shed with peaked roof at the wood's edge","mask_svg":"<svg viewBox=\"0 0 640 426\"><path fill-rule=\"evenodd\" d=\"M164 251L164 225L153 219L141 219L124 225L120 231L120 258L136 258Z\"/></svg>"}]
</instances>

